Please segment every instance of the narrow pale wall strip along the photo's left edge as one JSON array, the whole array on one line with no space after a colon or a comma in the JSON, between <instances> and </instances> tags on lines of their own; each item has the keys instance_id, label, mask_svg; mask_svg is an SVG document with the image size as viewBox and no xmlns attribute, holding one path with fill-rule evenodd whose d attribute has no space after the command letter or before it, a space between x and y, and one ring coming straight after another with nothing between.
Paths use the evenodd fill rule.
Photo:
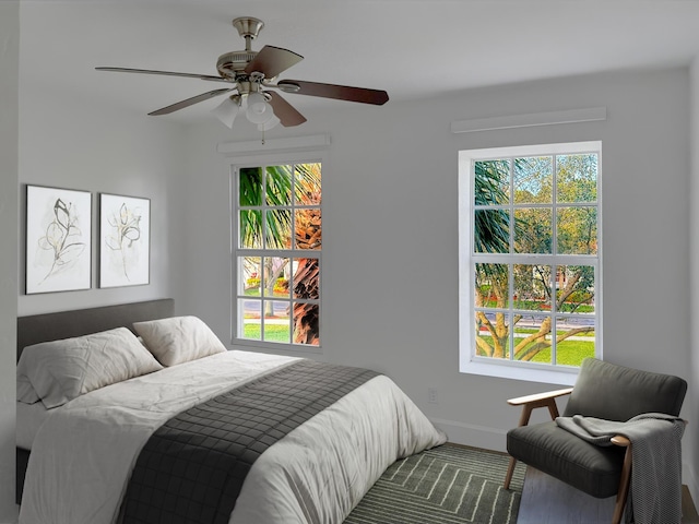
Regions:
<instances>
[{"instance_id":1,"label":"narrow pale wall strip along the photo's left edge","mask_svg":"<svg viewBox=\"0 0 699 524\"><path fill-rule=\"evenodd\" d=\"M20 2L0 2L0 523L14 504L14 362L17 314L17 128Z\"/></svg>"}]
</instances>

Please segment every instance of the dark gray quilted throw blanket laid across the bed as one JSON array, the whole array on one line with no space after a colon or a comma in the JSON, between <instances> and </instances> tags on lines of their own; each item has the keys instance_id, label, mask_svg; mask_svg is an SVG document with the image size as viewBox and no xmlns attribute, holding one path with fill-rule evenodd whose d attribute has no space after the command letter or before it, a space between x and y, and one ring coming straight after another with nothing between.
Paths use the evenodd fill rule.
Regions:
<instances>
[{"instance_id":1,"label":"dark gray quilted throw blanket laid across the bed","mask_svg":"<svg viewBox=\"0 0 699 524\"><path fill-rule=\"evenodd\" d=\"M143 446L122 522L227 524L257 458L377 374L304 359L176 415Z\"/></svg>"}]
</instances>

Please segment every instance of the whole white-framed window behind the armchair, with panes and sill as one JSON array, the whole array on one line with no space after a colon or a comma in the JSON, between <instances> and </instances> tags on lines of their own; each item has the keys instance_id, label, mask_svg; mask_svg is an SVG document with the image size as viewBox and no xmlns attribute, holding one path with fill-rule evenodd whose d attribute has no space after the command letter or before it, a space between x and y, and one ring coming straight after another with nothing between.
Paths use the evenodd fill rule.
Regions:
<instances>
[{"instance_id":1,"label":"whole white-framed window behind the armchair, with panes and sill","mask_svg":"<svg viewBox=\"0 0 699 524\"><path fill-rule=\"evenodd\" d=\"M601 356L600 152L460 153L462 371L571 383Z\"/></svg>"}]
</instances>

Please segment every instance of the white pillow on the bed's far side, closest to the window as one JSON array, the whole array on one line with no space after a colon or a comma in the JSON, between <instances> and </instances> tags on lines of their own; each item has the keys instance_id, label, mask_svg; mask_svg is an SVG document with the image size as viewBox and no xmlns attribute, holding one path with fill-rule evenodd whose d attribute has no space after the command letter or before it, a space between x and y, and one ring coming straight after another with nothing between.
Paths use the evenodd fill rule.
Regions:
<instances>
[{"instance_id":1,"label":"white pillow on the bed's far side, closest to the window","mask_svg":"<svg viewBox=\"0 0 699 524\"><path fill-rule=\"evenodd\" d=\"M175 366L226 350L213 331L197 317L135 322L133 329L163 366Z\"/></svg>"}]
</instances>

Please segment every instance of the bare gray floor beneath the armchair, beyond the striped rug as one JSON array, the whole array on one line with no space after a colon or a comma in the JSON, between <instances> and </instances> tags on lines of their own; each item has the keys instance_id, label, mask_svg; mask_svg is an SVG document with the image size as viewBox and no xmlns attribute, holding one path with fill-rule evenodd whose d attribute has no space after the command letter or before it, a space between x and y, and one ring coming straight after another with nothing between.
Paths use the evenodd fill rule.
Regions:
<instances>
[{"instance_id":1,"label":"bare gray floor beneath the armchair, beyond the striped rug","mask_svg":"<svg viewBox=\"0 0 699 524\"><path fill-rule=\"evenodd\" d=\"M528 467L517 524L604 524L612 522L614 502L614 497L595 499ZM699 524L686 486L683 487L683 524Z\"/></svg>"}]
</instances>

